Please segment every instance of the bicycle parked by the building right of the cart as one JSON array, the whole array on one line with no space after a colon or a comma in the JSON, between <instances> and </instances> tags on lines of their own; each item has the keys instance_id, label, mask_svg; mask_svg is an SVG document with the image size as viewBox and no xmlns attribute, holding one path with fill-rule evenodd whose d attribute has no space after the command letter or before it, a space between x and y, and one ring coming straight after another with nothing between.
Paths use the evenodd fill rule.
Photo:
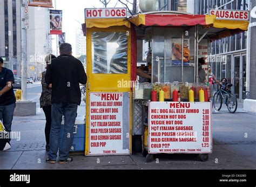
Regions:
<instances>
[{"instance_id":1,"label":"bicycle parked by the building right of the cart","mask_svg":"<svg viewBox=\"0 0 256 187\"><path fill-rule=\"evenodd\" d=\"M227 106L230 113L234 114L237 111L237 96L231 93L233 85L227 83L224 88L220 88L213 96L213 106L216 110L220 110L222 104Z\"/></svg>"}]
</instances>

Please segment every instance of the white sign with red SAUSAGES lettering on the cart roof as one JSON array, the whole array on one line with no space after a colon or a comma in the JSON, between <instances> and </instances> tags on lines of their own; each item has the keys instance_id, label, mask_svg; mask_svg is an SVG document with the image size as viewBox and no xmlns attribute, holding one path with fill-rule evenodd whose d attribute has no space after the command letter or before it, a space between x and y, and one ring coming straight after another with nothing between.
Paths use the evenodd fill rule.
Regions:
<instances>
[{"instance_id":1,"label":"white sign with red SAUSAGES lettering on the cart roof","mask_svg":"<svg viewBox=\"0 0 256 187\"><path fill-rule=\"evenodd\" d=\"M210 15L216 19L249 20L249 11L210 9Z\"/></svg>"}]
</instances>

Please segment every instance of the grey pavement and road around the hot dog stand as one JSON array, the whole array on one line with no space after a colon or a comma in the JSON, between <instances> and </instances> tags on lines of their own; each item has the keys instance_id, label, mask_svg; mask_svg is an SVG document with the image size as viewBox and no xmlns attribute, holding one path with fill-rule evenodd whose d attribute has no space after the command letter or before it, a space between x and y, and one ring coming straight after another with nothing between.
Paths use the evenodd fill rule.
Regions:
<instances>
[{"instance_id":1,"label":"grey pavement and road around the hot dog stand","mask_svg":"<svg viewBox=\"0 0 256 187\"><path fill-rule=\"evenodd\" d=\"M45 151L45 116L39 108L41 85L28 86L28 99L37 101L37 115L14 117L12 131L21 132L21 140L12 140L12 148L0 153L0 169L256 169L256 116L245 113L239 103L237 113L225 107L213 112L213 151L207 162L192 154L158 154L146 163L141 153L127 156L74 155L70 164L48 164ZM78 108L78 118L85 115L85 103Z\"/></svg>"}]
</instances>

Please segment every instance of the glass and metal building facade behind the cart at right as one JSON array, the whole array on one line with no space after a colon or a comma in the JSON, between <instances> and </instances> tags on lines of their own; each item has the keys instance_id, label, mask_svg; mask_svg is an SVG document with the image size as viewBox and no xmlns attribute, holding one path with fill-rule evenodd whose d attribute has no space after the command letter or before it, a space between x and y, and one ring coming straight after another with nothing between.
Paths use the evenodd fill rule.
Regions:
<instances>
[{"instance_id":1,"label":"glass and metal building facade behind the cart at right","mask_svg":"<svg viewBox=\"0 0 256 187\"><path fill-rule=\"evenodd\" d=\"M251 2L256 3L252 0ZM167 4L163 10L207 15L210 9L250 10L249 3L250 0L159 0L159 7ZM232 92L237 96L238 101L246 99L247 92L253 91L250 86L253 75L255 80L255 71L250 73L250 69L255 65L250 65L247 60L247 32L213 41L208 47L210 54L208 63L215 77L218 80L226 78L233 84ZM253 57L255 59L255 56Z\"/></svg>"}]
</instances>

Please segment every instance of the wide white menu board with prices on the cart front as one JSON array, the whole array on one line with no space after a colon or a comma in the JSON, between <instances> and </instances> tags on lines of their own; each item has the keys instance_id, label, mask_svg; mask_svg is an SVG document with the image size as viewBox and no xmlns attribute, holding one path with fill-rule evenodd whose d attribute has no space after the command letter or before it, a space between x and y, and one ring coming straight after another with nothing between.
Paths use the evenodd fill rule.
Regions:
<instances>
[{"instance_id":1,"label":"wide white menu board with prices on the cart front","mask_svg":"<svg viewBox=\"0 0 256 187\"><path fill-rule=\"evenodd\" d=\"M149 153L211 153L211 102L150 102Z\"/></svg>"}]
</instances>

